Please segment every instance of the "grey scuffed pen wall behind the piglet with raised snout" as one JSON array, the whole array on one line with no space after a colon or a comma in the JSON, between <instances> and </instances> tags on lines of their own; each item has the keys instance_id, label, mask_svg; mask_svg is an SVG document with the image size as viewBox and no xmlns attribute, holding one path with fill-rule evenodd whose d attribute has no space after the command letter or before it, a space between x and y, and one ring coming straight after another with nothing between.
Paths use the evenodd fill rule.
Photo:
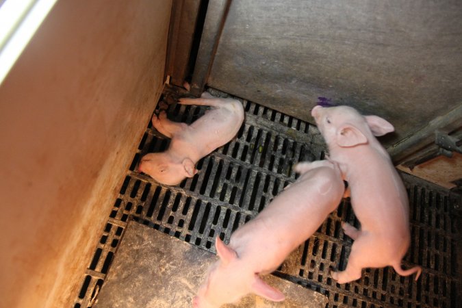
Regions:
<instances>
[{"instance_id":1,"label":"grey scuffed pen wall behind the piglet with raised snout","mask_svg":"<svg viewBox=\"0 0 462 308\"><path fill-rule=\"evenodd\" d=\"M460 29L462 1L233 0L207 83L311 123L351 105L391 146L461 104Z\"/></svg>"}]
</instances>

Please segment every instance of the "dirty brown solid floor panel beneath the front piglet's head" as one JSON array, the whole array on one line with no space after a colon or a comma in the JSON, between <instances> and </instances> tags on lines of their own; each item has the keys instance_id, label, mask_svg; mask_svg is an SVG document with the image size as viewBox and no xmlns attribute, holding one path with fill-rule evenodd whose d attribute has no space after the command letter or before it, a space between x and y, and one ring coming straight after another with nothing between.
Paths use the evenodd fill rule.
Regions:
<instances>
[{"instance_id":1,"label":"dirty brown solid floor panel beneath the front piglet's head","mask_svg":"<svg viewBox=\"0 0 462 308\"><path fill-rule=\"evenodd\" d=\"M111 270L98 296L97 308L185 308L217 257L137 222L129 222ZM223 308L324 308L326 296L269 275L266 282L286 296L274 303L259 296L242 298Z\"/></svg>"}]
</instances>

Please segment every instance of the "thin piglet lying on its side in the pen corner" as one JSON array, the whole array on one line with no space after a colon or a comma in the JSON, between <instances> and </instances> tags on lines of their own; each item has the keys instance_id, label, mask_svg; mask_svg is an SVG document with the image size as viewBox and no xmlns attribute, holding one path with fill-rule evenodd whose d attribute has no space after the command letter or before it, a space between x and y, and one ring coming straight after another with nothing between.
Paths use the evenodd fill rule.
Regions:
<instances>
[{"instance_id":1,"label":"thin piglet lying on its side in the pen corner","mask_svg":"<svg viewBox=\"0 0 462 308\"><path fill-rule=\"evenodd\" d=\"M235 99L219 99L204 92L200 99L183 98L179 103L207 105L211 109L191 125L168 120L165 111L159 117L153 115L153 126L171 138L170 145L162 153L144 155L138 171L166 185L193 177L198 160L233 139L244 121L244 107Z\"/></svg>"}]
</instances>

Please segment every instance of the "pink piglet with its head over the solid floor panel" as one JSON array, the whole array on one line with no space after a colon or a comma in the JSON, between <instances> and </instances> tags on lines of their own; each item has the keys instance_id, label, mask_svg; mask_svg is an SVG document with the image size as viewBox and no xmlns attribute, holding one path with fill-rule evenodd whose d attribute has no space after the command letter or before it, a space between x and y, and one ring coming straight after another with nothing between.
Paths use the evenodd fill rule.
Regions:
<instances>
[{"instance_id":1,"label":"pink piglet with its head over the solid floor panel","mask_svg":"<svg viewBox=\"0 0 462 308\"><path fill-rule=\"evenodd\" d=\"M268 300L285 296L264 283L260 275L270 274L295 248L318 229L344 194L344 182L337 164L327 160L295 166L302 175L261 211L238 228L229 245L216 238L220 259L193 298L193 307L220 307L255 293Z\"/></svg>"}]
</instances>

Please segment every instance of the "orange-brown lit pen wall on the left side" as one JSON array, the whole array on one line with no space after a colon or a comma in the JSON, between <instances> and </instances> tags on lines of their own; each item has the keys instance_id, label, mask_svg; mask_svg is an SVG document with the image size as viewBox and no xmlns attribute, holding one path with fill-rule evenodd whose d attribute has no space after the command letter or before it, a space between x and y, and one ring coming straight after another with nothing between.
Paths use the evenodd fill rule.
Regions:
<instances>
[{"instance_id":1,"label":"orange-brown lit pen wall on the left side","mask_svg":"<svg viewBox=\"0 0 462 308\"><path fill-rule=\"evenodd\" d=\"M170 0L57 2L0 86L0 307L70 307L162 91Z\"/></svg>"}]
</instances>

